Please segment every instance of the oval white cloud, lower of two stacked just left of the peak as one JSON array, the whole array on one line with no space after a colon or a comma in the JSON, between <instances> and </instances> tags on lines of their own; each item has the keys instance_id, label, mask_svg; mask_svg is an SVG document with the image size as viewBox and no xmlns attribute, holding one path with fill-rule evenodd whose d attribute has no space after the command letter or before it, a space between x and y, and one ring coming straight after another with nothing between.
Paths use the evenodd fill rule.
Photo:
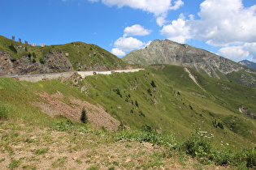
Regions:
<instances>
[{"instance_id":1,"label":"oval white cloud, lower of two stacked just left of the peak","mask_svg":"<svg viewBox=\"0 0 256 170\"><path fill-rule=\"evenodd\" d=\"M140 49L143 45L145 45L145 43L133 37L120 37L119 39L115 40L114 43L114 46L117 49L121 49L123 51Z\"/></svg>"}]
</instances>

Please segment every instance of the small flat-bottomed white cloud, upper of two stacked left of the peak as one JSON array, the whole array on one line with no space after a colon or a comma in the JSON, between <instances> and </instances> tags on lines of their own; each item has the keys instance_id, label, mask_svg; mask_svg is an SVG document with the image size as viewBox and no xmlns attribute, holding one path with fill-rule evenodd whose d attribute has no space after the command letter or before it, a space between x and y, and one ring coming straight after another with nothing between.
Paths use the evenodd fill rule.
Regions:
<instances>
[{"instance_id":1,"label":"small flat-bottomed white cloud, upper of two stacked left of the peak","mask_svg":"<svg viewBox=\"0 0 256 170\"><path fill-rule=\"evenodd\" d=\"M127 27L124 29L124 36L146 36L150 34L150 30L143 28L141 25L136 24L132 27Z\"/></svg>"}]
</instances>

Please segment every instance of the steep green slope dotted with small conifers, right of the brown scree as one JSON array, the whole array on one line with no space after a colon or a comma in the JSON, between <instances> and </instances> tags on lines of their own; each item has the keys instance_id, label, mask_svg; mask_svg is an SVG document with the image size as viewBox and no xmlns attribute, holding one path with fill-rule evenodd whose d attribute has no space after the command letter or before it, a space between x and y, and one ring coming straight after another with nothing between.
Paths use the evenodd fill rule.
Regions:
<instances>
[{"instance_id":1,"label":"steep green slope dotted with small conifers, right of the brown scree","mask_svg":"<svg viewBox=\"0 0 256 170\"><path fill-rule=\"evenodd\" d=\"M89 97L125 125L135 128L150 125L175 133L181 139L189 138L193 129L200 128L215 134L217 147L220 141L239 148L255 142L255 120L238 111L243 105L256 113L255 89L195 74L206 91L180 66L166 66L158 71L148 68L134 74L98 75L86 78L85 83L90 87ZM152 87L152 81L157 87ZM223 124L224 130L212 127L215 120Z\"/></svg>"}]
</instances>

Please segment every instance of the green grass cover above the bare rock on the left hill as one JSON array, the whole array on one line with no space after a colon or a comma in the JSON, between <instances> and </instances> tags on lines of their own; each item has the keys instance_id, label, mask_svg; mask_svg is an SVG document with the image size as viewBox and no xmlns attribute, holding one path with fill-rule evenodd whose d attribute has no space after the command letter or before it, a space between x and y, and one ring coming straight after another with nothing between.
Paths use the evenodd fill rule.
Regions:
<instances>
[{"instance_id":1,"label":"green grass cover above the bare rock on the left hill","mask_svg":"<svg viewBox=\"0 0 256 170\"><path fill-rule=\"evenodd\" d=\"M36 61L43 59L51 50L62 51L63 53L69 53L67 58L72 63L74 70L86 70L89 66L94 66L97 63L100 66L106 66L109 70L127 66L119 57L100 48L98 45L90 45L83 42L72 42L65 45L46 45L46 47L42 48L40 46L24 45L0 36L0 50L10 53L13 58L20 58L25 54L35 53L37 56L35 58Z\"/></svg>"}]
</instances>

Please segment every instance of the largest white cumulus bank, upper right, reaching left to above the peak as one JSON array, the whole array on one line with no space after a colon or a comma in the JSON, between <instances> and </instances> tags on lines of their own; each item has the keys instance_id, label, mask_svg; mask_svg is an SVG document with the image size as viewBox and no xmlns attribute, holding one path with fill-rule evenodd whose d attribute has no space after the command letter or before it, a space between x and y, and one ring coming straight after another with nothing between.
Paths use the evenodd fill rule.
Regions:
<instances>
[{"instance_id":1,"label":"largest white cumulus bank, upper right, reaching left to above the peak","mask_svg":"<svg viewBox=\"0 0 256 170\"><path fill-rule=\"evenodd\" d=\"M194 38L216 46L256 40L256 5L245 8L241 0L205 0L200 5L198 16L200 19L193 19L190 15L190 19L185 20L181 15L164 26L161 33L169 39ZM177 24L182 28L176 27Z\"/></svg>"}]
</instances>

